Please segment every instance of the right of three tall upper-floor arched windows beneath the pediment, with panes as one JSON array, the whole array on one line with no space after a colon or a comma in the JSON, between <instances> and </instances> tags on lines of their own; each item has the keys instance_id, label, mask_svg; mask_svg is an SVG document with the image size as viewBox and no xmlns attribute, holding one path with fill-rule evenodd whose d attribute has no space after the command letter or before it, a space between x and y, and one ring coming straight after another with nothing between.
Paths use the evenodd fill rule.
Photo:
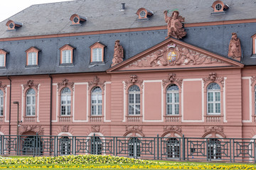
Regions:
<instances>
[{"instance_id":1,"label":"right of three tall upper-floor arched windows beneath the pediment, with panes","mask_svg":"<svg viewBox=\"0 0 256 170\"><path fill-rule=\"evenodd\" d=\"M207 86L207 113L220 114L220 86L216 83Z\"/></svg>"}]
</instances>

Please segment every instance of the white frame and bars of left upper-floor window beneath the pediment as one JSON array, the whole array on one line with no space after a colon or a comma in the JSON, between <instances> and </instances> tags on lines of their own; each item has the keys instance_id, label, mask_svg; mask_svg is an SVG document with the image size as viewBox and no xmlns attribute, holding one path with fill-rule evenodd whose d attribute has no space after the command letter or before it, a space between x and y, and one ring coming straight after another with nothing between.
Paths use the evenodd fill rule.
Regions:
<instances>
[{"instance_id":1,"label":"white frame and bars of left upper-floor window beneath the pediment","mask_svg":"<svg viewBox=\"0 0 256 170\"><path fill-rule=\"evenodd\" d=\"M130 89L132 89L134 86L137 86L137 85L132 85L128 89L128 115L140 115L141 114L140 89L139 89L139 86L137 86L136 88L139 89L139 91L130 91ZM133 102L130 102L131 97L134 98ZM138 100L139 100L139 102L138 102ZM133 108L133 111L130 111L130 109L129 109L130 107ZM137 111L137 108L139 108L138 111Z\"/></svg>"}]
</instances>

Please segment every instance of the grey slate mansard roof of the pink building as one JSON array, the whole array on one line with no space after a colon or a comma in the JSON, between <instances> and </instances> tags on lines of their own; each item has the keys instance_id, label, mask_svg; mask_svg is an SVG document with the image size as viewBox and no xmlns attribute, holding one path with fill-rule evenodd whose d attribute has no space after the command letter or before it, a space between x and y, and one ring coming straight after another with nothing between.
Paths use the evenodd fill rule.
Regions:
<instances>
[{"instance_id":1,"label":"grey slate mansard roof of the pink building","mask_svg":"<svg viewBox=\"0 0 256 170\"><path fill-rule=\"evenodd\" d=\"M16 15L0 23L0 49L7 50L6 69L0 70L0 75L18 74L57 74L73 72L105 72L112 64L114 41L120 40L124 47L124 60L137 55L149 47L165 40L167 35L164 11L178 9L180 15L185 17L186 23L206 23L215 21L235 21L255 19L255 0L223 0L228 4L226 14L213 16L213 1L204 0L80 0L65 1L52 4L39 4L30 6ZM124 11L121 11L125 3ZM153 11L154 15L149 21L137 21L137 10L146 8ZM87 18L81 26L70 26L70 16L78 14ZM12 20L23 23L15 31L6 31L6 22ZM157 27L156 30L136 30L131 28ZM128 30L127 30L128 28ZM187 35L182 39L206 50L215 52L225 57L228 56L228 45L231 33L238 33L242 45L242 63L256 64L252 59L251 36L256 33L256 23L236 23L218 26L185 27ZM126 29L124 31L116 31ZM114 30L115 33L102 33L102 30ZM70 36L68 33L86 33L96 31L90 35ZM65 36L63 34L67 33ZM37 35L57 35L55 38L35 38ZM18 38L23 40L18 40ZM17 38L6 40L6 38ZM100 41L105 47L105 64L90 64L90 45ZM76 47L74 61L71 67L60 66L60 51L65 44ZM39 67L26 68L26 52L29 47L38 47ZM255 60L255 61L254 61Z\"/></svg>"}]
</instances>

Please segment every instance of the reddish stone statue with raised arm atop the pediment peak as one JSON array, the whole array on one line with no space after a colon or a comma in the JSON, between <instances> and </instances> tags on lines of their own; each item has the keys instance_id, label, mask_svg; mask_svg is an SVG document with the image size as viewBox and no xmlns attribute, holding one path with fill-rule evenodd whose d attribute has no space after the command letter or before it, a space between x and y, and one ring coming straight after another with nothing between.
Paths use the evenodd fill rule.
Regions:
<instances>
[{"instance_id":1,"label":"reddish stone statue with raised arm atop the pediment peak","mask_svg":"<svg viewBox=\"0 0 256 170\"><path fill-rule=\"evenodd\" d=\"M185 21L185 18L179 16L178 11L174 11L170 17L167 16L167 11L164 11L164 20L167 23L168 29L168 36L166 38L174 37L181 39L186 35L186 32L181 23Z\"/></svg>"}]
</instances>

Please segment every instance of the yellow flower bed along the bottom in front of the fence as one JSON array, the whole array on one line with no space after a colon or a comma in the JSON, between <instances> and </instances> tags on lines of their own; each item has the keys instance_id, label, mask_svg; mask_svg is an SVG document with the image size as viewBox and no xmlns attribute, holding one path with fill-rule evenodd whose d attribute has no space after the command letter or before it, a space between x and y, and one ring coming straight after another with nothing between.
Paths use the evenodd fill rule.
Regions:
<instances>
[{"instance_id":1,"label":"yellow flower bed along the bottom in front of the fence","mask_svg":"<svg viewBox=\"0 0 256 170\"><path fill-rule=\"evenodd\" d=\"M82 168L82 169L255 169L248 164L193 164L154 162L149 160L102 155L68 155L63 157L1 158L0 169ZM98 164L98 165L97 165ZM104 165L102 165L104 164Z\"/></svg>"}]
</instances>

